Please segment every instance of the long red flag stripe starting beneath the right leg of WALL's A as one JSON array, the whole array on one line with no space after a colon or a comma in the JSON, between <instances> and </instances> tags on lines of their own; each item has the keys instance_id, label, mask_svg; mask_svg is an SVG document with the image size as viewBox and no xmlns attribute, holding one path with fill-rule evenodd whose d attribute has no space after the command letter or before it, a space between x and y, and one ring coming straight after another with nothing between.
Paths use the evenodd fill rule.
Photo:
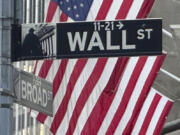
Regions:
<instances>
[{"instance_id":1,"label":"long red flag stripe starting beneath the right leg of WALL's A","mask_svg":"<svg viewBox=\"0 0 180 135\"><path fill-rule=\"evenodd\" d=\"M66 135L73 134L74 129L76 127L78 117L79 117L86 101L88 100L88 97L90 96L92 90L96 86L96 83L98 82L98 80L104 70L106 62L107 62L107 58L98 59L98 62L96 63L96 66L93 69L93 72L91 73L90 77L88 78L88 80L87 80L84 88L82 89L82 92L76 102L76 106L75 106L75 109L71 116L71 120L69 122L69 127L66 132Z\"/></svg>"}]
</instances>

